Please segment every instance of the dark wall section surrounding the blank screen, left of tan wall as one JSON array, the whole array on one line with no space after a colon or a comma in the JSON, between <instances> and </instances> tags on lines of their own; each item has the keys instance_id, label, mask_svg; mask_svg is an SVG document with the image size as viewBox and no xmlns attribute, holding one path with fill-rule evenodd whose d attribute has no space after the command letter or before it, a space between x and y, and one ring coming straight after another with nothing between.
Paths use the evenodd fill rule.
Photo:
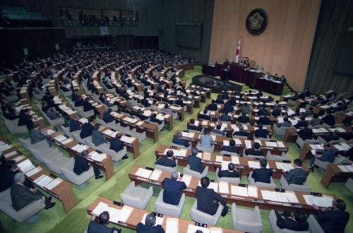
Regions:
<instances>
[{"instance_id":1,"label":"dark wall section surrounding the blank screen, left of tan wall","mask_svg":"<svg viewBox=\"0 0 353 233\"><path fill-rule=\"evenodd\" d=\"M196 57L201 63L208 62L212 31L214 0L164 0L160 49L176 54ZM175 45L175 23L203 23L201 49Z\"/></svg>"}]
</instances>

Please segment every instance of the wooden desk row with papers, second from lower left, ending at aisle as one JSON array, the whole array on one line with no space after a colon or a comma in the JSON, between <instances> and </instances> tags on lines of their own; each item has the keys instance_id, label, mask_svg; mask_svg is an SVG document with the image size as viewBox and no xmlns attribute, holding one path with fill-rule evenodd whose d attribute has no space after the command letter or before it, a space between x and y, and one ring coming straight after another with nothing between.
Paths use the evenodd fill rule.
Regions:
<instances>
[{"instance_id":1,"label":"wooden desk row with papers, second from lower left, ending at aisle","mask_svg":"<svg viewBox=\"0 0 353 233\"><path fill-rule=\"evenodd\" d=\"M88 150L88 153L97 152L95 149L90 148L87 145L82 145L81 143L74 141L72 138L67 138L62 133L54 131L50 128L44 129L42 133L56 145L64 148L64 150L66 150L71 157L76 157L76 155L78 153L82 153L83 150ZM102 161L94 160L93 157L89 156L87 160L92 165L97 166L100 170L105 172L107 179L112 178L114 175L113 161L111 156L107 155Z\"/></svg>"}]
</instances>

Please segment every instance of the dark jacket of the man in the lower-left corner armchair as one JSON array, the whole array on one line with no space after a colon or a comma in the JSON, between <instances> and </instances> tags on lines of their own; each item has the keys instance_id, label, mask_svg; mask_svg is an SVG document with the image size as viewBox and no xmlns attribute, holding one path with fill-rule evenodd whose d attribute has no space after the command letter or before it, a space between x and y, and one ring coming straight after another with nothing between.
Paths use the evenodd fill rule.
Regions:
<instances>
[{"instance_id":1,"label":"dark jacket of the man in the lower-left corner armchair","mask_svg":"<svg viewBox=\"0 0 353 233\"><path fill-rule=\"evenodd\" d=\"M11 202L16 211L40 199L42 199L42 193L40 192L32 193L30 188L17 183L11 185Z\"/></svg>"}]
</instances>

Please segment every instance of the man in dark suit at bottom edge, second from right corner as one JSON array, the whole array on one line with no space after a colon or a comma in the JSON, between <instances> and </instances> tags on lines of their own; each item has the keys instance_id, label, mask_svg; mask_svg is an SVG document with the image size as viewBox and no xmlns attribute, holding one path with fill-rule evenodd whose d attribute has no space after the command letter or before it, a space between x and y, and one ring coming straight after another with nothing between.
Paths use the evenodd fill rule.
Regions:
<instances>
[{"instance_id":1,"label":"man in dark suit at bottom edge, second from right corner","mask_svg":"<svg viewBox=\"0 0 353 233\"><path fill-rule=\"evenodd\" d=\"M309 223L306 221L306 216L300 210L296 210L294 216L289 211L285 211L282 215L277 210L275 210L275 213L277 216L276 225L280 229L289 229L298 232L309 230Z\"/></svg>"}]
</instances>

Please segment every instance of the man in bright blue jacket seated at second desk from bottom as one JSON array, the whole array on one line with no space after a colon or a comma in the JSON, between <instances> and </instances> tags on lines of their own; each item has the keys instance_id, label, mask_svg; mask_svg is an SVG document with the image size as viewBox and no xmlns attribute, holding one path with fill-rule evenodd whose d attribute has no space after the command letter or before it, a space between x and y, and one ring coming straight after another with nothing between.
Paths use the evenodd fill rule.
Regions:
<instances>
[{"instance_id":1,"label":"man in bright blue jacket seated at second desk from bottom","mask_svg":"<svg viewBox=\"0 0 353 233\"><path fill-rule=\"evenodd\" d=\"M186 184L183 181L178 181L179 173L172 172L169 178L164 178L163 184L163 202L170 205L179 205L181 198L181 190L186 189Z\"/></svg>"}]
</instances>

